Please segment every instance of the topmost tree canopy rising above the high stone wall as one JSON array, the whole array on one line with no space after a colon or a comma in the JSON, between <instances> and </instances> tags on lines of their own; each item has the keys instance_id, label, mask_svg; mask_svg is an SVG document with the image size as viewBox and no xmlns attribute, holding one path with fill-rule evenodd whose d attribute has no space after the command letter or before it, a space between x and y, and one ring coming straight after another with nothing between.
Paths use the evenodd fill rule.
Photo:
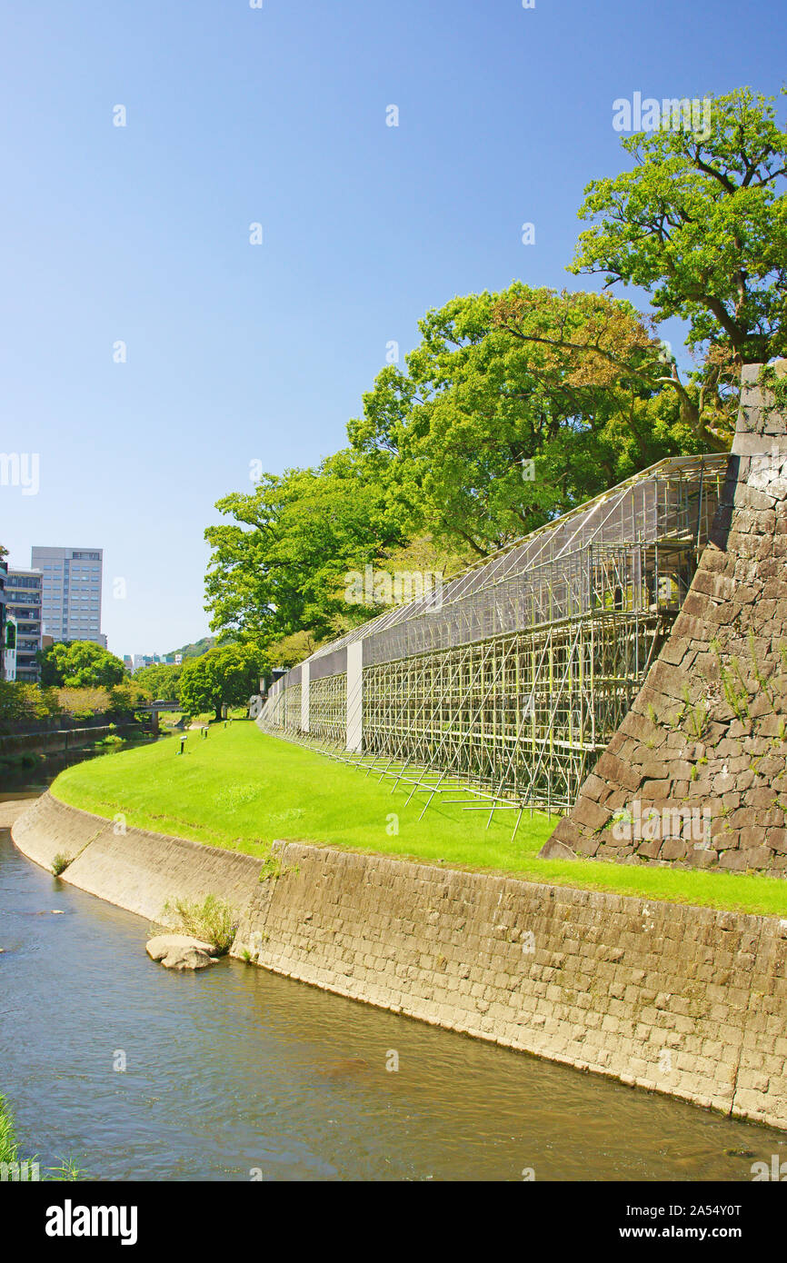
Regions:
<instances>
[{"instance_id":1,"label":"topmost tree canopy rising above the high stone wall","mask_svg":"<svg viewBox=\"0 0 787 1263\"><path fill-rule=\"evenodd\" d=\"M707 136L637 133L634 171L587 184L572 272L640 285L659 320L688 321L687 342L735 364L787 350L787 133L750 88L709 99ZM719 355L711 356L711 362Z\"/></svg>"}]
</instances>

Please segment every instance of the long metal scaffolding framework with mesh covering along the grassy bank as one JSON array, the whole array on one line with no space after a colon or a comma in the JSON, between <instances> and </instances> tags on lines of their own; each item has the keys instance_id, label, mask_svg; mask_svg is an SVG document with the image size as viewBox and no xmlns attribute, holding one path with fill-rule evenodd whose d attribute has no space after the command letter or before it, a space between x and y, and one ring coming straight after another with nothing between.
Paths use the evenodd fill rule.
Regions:
<instances>
[{"instance_id":1,"label":"long metal scaffolding framework with mesh covering along the grassy bank","mask_svg":"<svg viewBox=\"0 0 787 1263\"><path fill-rule=\"evenodd\" d=\"M725 456L662 461L445 585L325 645L260 722L483 810L567 811L678 613ZM359 645L359 642L361 644ZM347 676L347 648L363 672ZM352 681L347 687L347 679ZM349 715L361 717L347 749Z\"/></svg>"}]
</instances>

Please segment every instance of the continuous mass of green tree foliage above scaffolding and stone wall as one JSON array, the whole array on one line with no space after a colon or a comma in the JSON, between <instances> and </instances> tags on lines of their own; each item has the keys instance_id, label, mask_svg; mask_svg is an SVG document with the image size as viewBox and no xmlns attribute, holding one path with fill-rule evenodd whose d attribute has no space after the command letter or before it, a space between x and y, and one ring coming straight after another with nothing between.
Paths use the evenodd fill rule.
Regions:
<instances>
[{"instance_id":1,"label":"continuous mass of green tree foliage above scaffolding and stone wall","mask_svg":"<svg viewBox=\"0 0 787 1263\"><path fill-rule=\"evenodd\" d=\"M787 133L750 88L710 104L706 135L627 138L634 169L585 191L570 270L640 287L652 312L520 282L428 311L347 448L219 501L211 628L291 666L379 613L346 599L351 571L448 575L663 457L729 450L740 365L787 350ZM676 316L683 376L657 336Z\"/></svg>"}]
</instances>

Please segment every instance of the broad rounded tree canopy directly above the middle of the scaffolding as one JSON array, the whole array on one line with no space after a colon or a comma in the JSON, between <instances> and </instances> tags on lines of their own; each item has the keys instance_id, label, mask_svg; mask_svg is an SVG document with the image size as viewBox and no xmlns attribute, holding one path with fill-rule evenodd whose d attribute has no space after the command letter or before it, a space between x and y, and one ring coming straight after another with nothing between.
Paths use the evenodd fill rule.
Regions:
<instances>
[{"instance_id":1,"label":"broad rounded tree canopy directly above the middle of the scaffolding","mask_svg":"<svg viewBox=\"0 0 787 1263\"><path fill-rule=\"evenodd\" d=\"M707 442L628 303L514 283L454 298L419 330L349 426L411 532L484 556Z\"/></svg>"}]
</instances>

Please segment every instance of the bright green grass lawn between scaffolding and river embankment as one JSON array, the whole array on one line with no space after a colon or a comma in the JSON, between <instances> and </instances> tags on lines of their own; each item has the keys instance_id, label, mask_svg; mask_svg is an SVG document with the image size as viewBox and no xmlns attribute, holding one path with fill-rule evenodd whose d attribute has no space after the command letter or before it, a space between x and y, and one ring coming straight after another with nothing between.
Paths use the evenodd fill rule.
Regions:
<instances>
[{"instance_id":1,"label":"bright green grass lawn between scaffolding and river embankment","mask_svg":"<svg viewBox=\"0 0 787 1263\"><path fill-rule=\"evenodd\" d=\"M179 738L107 754L67 768L52 784L62 802L130 826L174 834L264 858L273 840L330 844L457 868L493 869L533 882L574 885L649 899L787 916L787 882L739 873L700 873L596 860L539 860L557 818L534 812L462 811L397 788L365 770L267 736L255 724L211 726L203 739ZM469 796L464 802L470 803ZM398 827L398 832L394 830Z\"/></svg>"}]
</instances>

